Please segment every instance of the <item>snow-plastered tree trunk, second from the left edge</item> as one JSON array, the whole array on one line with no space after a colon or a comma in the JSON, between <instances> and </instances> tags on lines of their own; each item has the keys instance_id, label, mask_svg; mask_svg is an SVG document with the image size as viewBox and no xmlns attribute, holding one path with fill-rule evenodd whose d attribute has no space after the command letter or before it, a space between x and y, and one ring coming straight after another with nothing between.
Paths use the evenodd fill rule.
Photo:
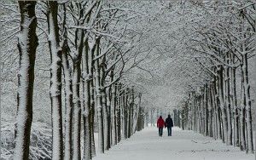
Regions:
<instances>
[{"instance_id":1,"label":"snow-plastered tree trunk, second from the left edge","mask_svg":"<svg viewBox=\"0 0 256 160\"><path fill-rule=\"evenodd\" d=\"M63 159L63 134L61 111L61 50L58 26L58 3L49 2L49 51L51 55L50 100L52 115L52 159Z\"/></svg>"}]
</instances>

